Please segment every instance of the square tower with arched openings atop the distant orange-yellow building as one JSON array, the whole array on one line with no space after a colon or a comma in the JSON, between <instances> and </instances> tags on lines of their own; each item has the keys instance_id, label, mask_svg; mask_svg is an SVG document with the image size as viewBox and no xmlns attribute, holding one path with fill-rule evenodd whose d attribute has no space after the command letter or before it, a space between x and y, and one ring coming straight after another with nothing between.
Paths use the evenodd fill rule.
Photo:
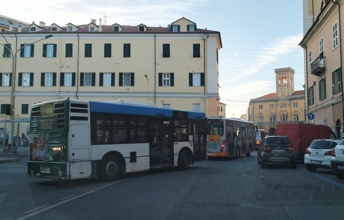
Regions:
<instances>
[{"instance_id":1,"label":"square tower with arched openings atop the distant orange-yellow building","mask_svg":"<svg viewBox=\"0 0 344 220\"><path fill-rule=\"evenodd\" d=\"M294 73L291 67L275 69L276 74L276 96L290 96L294 91Z\"/></svg>"}]
</instances>

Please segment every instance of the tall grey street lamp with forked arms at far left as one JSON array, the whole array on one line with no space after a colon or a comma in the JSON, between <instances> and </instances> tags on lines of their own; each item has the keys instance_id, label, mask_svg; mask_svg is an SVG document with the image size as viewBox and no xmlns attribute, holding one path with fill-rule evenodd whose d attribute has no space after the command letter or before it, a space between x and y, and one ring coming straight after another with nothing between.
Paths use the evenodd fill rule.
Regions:
<instances>
[{"instance_id":1,"label":"tall grey street lamp with forked arms at far left","mask_svg":"<svg viewBox=\"0 0 344 220\"><path fill-rule=\"evenodd\" d=\"M5 39L7 45L9 45L7 39L5 38L5 36L3 36L2 32L0 31L0 34L1 36L3 37L3 39ZM26 46L30 46L32 44L35 44L39 41L42 41L42 40L45 40L47 38L51 38L52 37L52 34L49 34L49 35L46 35L44 38L38 40L38 41L35 41L33 43L30 43L30 44L25 44L24 46L22 46L21 48L17 49L16 52L13 53L13 50L11 47L8 47L4 44L1 44L3 45L4 47L6 47L9 51L11 51L11 55L12 55L12 74L11 74L11 101L10 101L10 120L9 120L9 132L8 132L8 149L11 150L11 146L12 146L12 143L13 143L13 118L14 118L14 85L15 85L15 62L16 62L16 56L17 56L17 53L23 49L24 47ZM12 150L11 150L12 152Z\"/></svg>"}]
</instances>

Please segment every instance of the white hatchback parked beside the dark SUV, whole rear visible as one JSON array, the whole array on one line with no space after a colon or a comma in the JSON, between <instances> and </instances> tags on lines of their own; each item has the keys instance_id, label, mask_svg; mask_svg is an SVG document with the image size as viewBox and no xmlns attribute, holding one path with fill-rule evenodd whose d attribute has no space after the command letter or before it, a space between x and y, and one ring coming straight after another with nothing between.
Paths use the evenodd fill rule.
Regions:
<instances>
[{"instance_id":1,"label":"white hatchback parked beside the dark SUV, whole rear visible","mask_svg":"<svg viewBox=\"0 0 344 220\"><path fill-rule=\"evenodd\" d=\"M304 164L307 170L316 171L317 168L332 169L332 150L341 140L318 139L312 141L305 151Z\"/></svg>"}]
</instances>

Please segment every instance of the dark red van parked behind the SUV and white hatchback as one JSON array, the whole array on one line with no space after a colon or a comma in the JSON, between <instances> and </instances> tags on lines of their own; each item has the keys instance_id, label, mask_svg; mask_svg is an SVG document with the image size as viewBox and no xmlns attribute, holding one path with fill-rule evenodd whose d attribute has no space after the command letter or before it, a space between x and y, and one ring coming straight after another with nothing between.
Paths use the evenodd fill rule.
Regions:
<instances>
[{"instance_id":1,"label":"dark red van parked behind the SUV and white hatchback","mask_svg":"<svg viewBox=\"0 0 344 220\"><path fill-rule=\"evenodd\" d=\"M297 160L302 160L308 146L315 139L337 139L328 126L305 123L277 124L275 135L287 136L293 144Z\"/></svg>"}]
</instances>

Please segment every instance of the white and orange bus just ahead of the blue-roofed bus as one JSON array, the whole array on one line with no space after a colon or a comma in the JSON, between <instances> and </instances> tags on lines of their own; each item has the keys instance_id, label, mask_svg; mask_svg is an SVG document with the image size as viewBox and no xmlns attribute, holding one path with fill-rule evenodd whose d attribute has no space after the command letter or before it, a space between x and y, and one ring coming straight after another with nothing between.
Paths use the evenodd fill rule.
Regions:
<instances>
[{"instance_id":1,"label":"white and orange bus just ahead of the blue-roofed bus","mask_svg":"<svg viewBox=\"0 0 344 220\"><path fill-rule=\"evenodd\" d=\"M209 157L251 155L255 143L254 123L239 118L207 118Z\"/></svg>"}]
</instances>

